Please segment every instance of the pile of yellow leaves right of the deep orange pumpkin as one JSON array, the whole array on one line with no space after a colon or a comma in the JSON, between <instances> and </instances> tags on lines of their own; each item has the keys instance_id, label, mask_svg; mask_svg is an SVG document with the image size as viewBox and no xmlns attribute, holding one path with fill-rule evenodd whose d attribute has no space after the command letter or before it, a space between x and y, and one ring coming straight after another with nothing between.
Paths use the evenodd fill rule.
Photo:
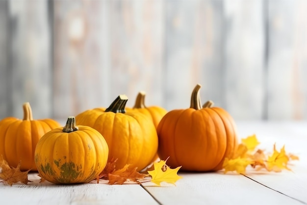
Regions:
<instances>
[{"instance_id":1,"label":"pile of yellow leaves right of the deep orange pumpkin","mask_svg":"<svg viewBox=\"0 0 307 205\"><path fill-rule=\"evenodd\" d=\"M269 155L262 149L256 149L259 144L256 135L242 139L232 159L225 158L223 163L224 173L235 171L238 174L245 175L248 165L256 171L264 169L268 172L281 172L283 169L290 170L288 168L290 160L299 159L296 155L287 154L284 146L278 151L274 144L273 153Z\"/></svg>"}]
</instances>

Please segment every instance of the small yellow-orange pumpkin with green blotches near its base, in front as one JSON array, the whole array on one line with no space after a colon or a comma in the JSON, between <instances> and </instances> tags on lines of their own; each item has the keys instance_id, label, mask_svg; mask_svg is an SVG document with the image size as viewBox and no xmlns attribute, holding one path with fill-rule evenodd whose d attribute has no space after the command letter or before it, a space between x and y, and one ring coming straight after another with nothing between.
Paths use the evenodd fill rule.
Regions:
<instances>
[{"instance_id":1,"label":"small yellow-orange pumpkin with green blotches near its base, in front","mask_svg":"<svg viewBox=\"0 0 307 205\"><path fill-rule=\"evenodd\" d=\"M35 149L40 176L52 183L83 183L96 179L104 169L108 146L103 136L88 126L76 126L68 117L64 127L46 133Z\"/></svg>"}]
</instances>

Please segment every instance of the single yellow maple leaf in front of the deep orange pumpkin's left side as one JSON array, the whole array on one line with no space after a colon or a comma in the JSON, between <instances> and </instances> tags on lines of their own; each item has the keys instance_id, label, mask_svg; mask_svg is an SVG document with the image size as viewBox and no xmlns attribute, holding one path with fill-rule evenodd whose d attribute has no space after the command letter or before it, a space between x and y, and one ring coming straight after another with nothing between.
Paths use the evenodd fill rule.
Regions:
<instances>
[{"instance_id":1,"label":"single yellow maple leaf in front of the deep orange pumpkin's left side","mask_svg":"<svg viewBox=\"0 0 307 205\"><path fill-rule=\"evenodd\" d=\"M180 167L175 169L171 169L169 166L166 165L166 160L160 160L159 162L153 163L154 170L148 171L148 174L152 176L152 182L159 185L161 182L167 182L175 184L175 182L182 178L182 176L178 176L177 173Z\"/></svg>"}]
</instances>

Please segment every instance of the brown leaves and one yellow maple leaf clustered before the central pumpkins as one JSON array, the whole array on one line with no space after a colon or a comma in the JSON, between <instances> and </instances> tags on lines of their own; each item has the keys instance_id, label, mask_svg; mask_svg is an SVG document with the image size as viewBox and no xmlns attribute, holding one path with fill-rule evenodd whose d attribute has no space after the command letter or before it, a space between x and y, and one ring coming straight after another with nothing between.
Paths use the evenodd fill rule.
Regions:
<instances>
[{"instance_id":1,"label":"brown leaves and one yellow maple leaf clustered before the central pumpkins","mask_svg":"<svg viewBox=\"0 0 307 205\"><path fill-rule=\"evenodd\" d=\"M154 169L152 171L148 171L148 174L137 172L137 168L130 169L129 165L126 165L122 169L116 169L116 161L117 160L111 160L107 163L106 167L98 177L98 182L99 179L108 180L108 184L124 184L125 182L141 184L151 181L160 186L161 182L175 184L178 179L182 178L181 176L177 175L180 167L171 169L166 165L166 160L154 162ZM151 179L146 180L150 177Z\"/></svg>"}]
</instances>

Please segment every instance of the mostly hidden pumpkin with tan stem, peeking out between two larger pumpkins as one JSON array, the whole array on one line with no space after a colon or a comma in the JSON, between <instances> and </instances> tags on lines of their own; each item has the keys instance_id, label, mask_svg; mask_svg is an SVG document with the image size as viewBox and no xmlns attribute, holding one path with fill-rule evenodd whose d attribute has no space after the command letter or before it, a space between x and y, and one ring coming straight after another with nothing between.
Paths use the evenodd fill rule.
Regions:
<instances>
[{"instance_id":1,"label":"mostly hidden pumpkin with tan stem, peeking out between two larger pumpkins","mask_svg":"<svg viewBox=\"0 0 307 205\"><path fill-rule=\"evenodd\" d=\"M133 106L134 111L143 113L144 115L150 117L153 120L155 128L157 128L162 117L167 113L164 108L159 106L149 106L145 105L146 92L140 91L135 99L135 104Z\"/></svg>"}]
</instances>

